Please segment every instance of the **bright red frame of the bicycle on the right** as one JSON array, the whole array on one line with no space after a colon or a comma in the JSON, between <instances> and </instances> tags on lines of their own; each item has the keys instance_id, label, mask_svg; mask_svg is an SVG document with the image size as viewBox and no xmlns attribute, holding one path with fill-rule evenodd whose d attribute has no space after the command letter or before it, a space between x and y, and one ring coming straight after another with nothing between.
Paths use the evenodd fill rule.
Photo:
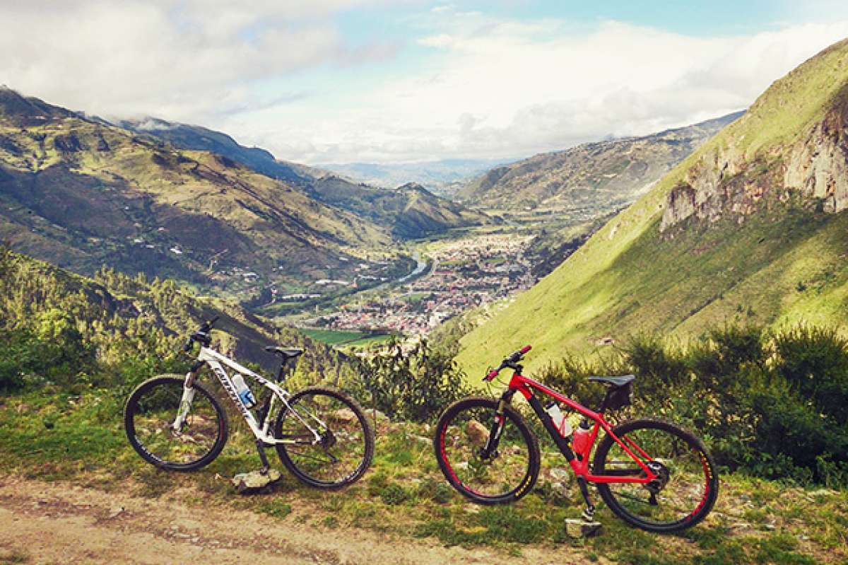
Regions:
<instances>
[{"instance_id":1,"label":"bright red frame of the bicycle on the right","mask_svg":"<svg viewBox=\"0 0 848 565\"><path fill-rule=\"evenodd\" d=\"M542 394L546 394L555 400L565 404L566 406L572 408L572 410L583 414L584 417L589 418L590 420L594 420L594 426L589 433L589 441L587 442L586 449L583 453L575 454L572 450L571 446L568 445L568 442L565 438L561 436L561 434L556 430L554 423L551 421L548 413L544 411L544 407L542 406L541 401L538 400L538 397L533 394L533 391L538 391ZM637 484L648 484L650 481L657 478L656 473L653 473L650 468L645 465L645 463L633 453L633 450L638 451L639 455L650 460L650 456L642 450L639 445L629 438L625 438L628 445L620 439L616 434L613 434L612 427L609 422L606 422L604 419L604 415L601 412L596 412L589 410L586 406L583 406L574 400L571 400L567 396L556 392L554 389L550 389L538 381L533 380L532 378L524 377L519 372L515 372L510 379L510 383L508 385L508 389L501 396L501 403L509 404L512 400L513 394L516 392L520 392L530 406L533 408L533 411L536 412L536 416L538 416L539 420L544 424L544 428L550 434L551 439L554 440L554 443L561 451L562 455L565 456L569 465L571 465L574 474L577 478L583 478L584 481L589 483L637 483ZM499 409L499 410L502 410ZM496 422L495 426L497 428L503 427L504 417L501 414L499 416L499 422ZM589 473L589 454L592 452L592 448L594 447L594 442L598 438L598 432L600 428L603 428L606 434L616 442L616 444L622 447L625 453L628 456L633 458L633 461L639 465L639 468L644 473L644 477L633 477L626 475L594 475ZM494 434L489 435L489 442L497 441L500 435L500 429L493 430ZM488 449L488 445L487 445Z\"/></svg>"}]
</instances>

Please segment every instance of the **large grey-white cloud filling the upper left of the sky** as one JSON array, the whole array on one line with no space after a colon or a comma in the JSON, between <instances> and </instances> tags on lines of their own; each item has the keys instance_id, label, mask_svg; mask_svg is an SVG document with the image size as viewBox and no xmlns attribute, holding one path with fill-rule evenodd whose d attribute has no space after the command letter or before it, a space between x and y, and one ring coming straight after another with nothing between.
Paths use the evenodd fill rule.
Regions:
<instances>
[{"instance_id":1,"label":"large grey-white cloud filling the upper left of the sky","mask_svg":"<svg viewBox=\"0 0 848 565\"><path fill-rule=\"evenodd\" d=\"M266 105L254 81L390 56L350 47L332 19L369 3L382 0L0 1L0 81L92 113L204 120Z\"/></svg>"}]
</instances>

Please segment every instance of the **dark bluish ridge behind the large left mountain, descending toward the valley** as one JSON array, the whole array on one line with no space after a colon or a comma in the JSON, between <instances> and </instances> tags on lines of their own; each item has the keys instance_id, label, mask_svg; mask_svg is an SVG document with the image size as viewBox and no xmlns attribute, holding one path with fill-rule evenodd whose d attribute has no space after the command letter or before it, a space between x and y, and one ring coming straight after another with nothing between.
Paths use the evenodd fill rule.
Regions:
<instances>
[{"instance_id":1,"label":"dark bluish ridge behind the large left mountain, descending toward the valley","mask_svg":"<svg viewBox=\"0 0 848 565\"><path fill-rule=\"evenodd\" d=\"M359 216L397 238L421 238L454 227L485 224L488 216L439 198L420 185L406 183L393 189L351 182L328 171L277 160L260 148L239 145L220 131L156 118L124 120L121 127L147 139L162 139L176 148L220 154L265 176L282 179L311 198ZM402 177L401 177L402 178ZM404 179L406 182L408 177Z\"/></svg>"}]
</instances>

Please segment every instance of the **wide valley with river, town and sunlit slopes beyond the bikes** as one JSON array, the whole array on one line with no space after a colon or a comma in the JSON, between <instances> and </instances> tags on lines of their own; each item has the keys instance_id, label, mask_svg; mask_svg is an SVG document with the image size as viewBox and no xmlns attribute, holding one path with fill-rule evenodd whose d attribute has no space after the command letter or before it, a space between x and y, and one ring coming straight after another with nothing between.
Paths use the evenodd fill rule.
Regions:
<instances>
[{"instance_id":1,"label":"wide valley with river, town and sunlit slopes beyond the bikes","mask_svg":"<svg viewBox=\"0 0 848 565\"><path fill-rule=\"evenodd\" d=\"M414 344L532 288L735 117L492 161L461 185L486 162L384 168L395 179L432 169L455 202L279 160L201 126L110 122L3 87L0 240L87 276L108 266L172 279L345 350Z\"/></svg>"}]
</instances>

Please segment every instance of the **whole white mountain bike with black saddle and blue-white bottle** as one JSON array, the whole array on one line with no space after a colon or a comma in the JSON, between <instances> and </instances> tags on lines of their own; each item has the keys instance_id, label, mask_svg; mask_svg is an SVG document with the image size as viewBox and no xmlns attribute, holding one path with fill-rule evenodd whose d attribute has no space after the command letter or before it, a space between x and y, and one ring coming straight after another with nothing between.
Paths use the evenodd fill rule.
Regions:
<instances>
[{"instance_id":1,"label":"whole white mountain bike with black saddle and blue-white bottle","mask_svg":"<svg viewBox=\"0 0 848 565\"><path fill-rule=\"evenodd\" d=\"M200 344L198 360L185 375L160 375L138 385L124 409L126 436L138 455L156 467L193 471L215 460L226 444L229 422L220 400L198 371L208 365L256 436L263 473L269 468L265 448L276 448L280 461L306 484L338 489L354 483L371 465L374 431L360 405L347 394L310 387L289 394L280 383L288 361L303 350L266 347L282 357L273 383L211 349L212 326L204 322L185 346ZM224 366L237 375L231 378ZM266 389L257 404L243 378Z\"/></svg>"}]
</instances>

